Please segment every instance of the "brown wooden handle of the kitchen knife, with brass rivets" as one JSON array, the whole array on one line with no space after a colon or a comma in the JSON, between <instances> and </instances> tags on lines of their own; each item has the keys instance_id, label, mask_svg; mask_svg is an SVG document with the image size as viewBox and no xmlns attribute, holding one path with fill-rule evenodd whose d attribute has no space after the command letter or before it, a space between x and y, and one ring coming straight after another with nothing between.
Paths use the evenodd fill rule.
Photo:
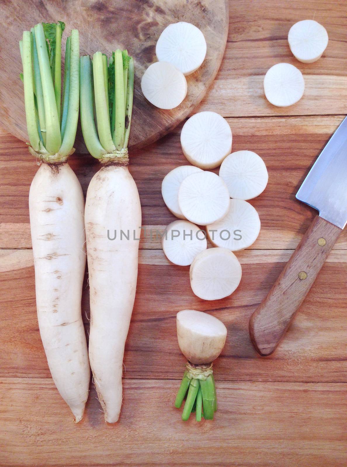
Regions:
<instances>
[{"instance_id":1,"label":"brown wooden handle of the kitchen knife, with brass rivets","mask_svg":"<svg viewBox=\"0 0 347 467\"><path fill-rule=\"evenodd\" d=\"M265 300L249 320L260 355L270 355L287 331L342 229L316 216Z\"/></svg>"}]
</instances>

